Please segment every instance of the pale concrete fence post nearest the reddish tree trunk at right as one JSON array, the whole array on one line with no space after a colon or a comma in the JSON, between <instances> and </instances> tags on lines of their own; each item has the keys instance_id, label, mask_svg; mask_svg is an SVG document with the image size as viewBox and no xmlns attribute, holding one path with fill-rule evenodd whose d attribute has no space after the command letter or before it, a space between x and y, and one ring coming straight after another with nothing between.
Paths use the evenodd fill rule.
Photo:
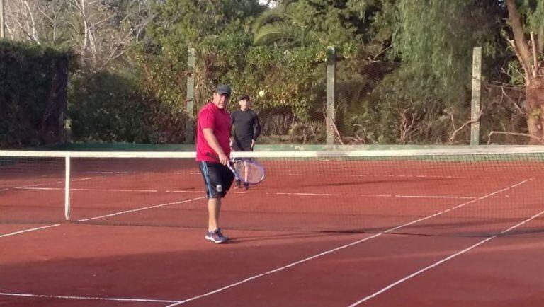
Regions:
<instances>
[{"instance_id":1,"label":"pale concrete fence post nearest the reddish tree trunk at right","mask_svg":"<svg viewBox=\"0 0 544 307\"><path fill-rule=\"evenodd\" d=\"M482 48L472 50L472 103L470 110L470 145L480 144L480 100L482 87Z\"/></svg>"}]
</instances>

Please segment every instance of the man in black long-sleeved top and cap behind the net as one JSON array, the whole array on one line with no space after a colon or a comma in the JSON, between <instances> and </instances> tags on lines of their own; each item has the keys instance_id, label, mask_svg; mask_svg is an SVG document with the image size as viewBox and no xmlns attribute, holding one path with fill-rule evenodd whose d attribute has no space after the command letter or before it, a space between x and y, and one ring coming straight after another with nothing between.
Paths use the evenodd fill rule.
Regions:
<instances>
[{"instance_id":1,"label":"man in black long-sleeved top and cap behind the net","mask_svg":"<svg viewBox=\"0 0 544 307\"><path fill-rule=\"evenodd\" d=\"M261 124L259 116L254 110L250 109L251 100L248 95L242 96L239 100L240 109L230 114L230 126L234 126L232 139L232 149L234 151L253 151L255 141L261 134ZM236 180L234 188L240 187L240 180ZM244 183L244 190L249 189L249 185Z\"/></svg>"}]
</instances>

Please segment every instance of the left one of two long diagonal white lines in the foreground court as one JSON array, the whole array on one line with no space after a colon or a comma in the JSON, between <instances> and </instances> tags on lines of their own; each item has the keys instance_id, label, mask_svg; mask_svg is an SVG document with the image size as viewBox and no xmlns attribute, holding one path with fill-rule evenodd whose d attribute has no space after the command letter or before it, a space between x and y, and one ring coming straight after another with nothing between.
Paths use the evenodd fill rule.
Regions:
<instances>
[{"instance_id":1,"label":"left one of two long diagonal white lines in the foreground court","mask_svg":"<svg viewBox=\"0 0 544 307\"><path fill-rule=\"evenodd\" d=\"M203 298L203 297L205 297L205 296L210 296L210 295L212 295L212 294L216 294L216 293L219 293L219 292L221 292L221 291L225 291L225 290L227 290L227 289L229 289L229 288L232 288L232 287L234 287L234 286L239 286L240 284L245 284L246 282L250 282L251 280L257 279L257 278L259 278L259 277L263 277L263 276L266 276L266 275L269 275L269 274L273 274L273 273L279 272L279 271L281 271L281 270L288 269L289 267L294 267L295 265L300 265L301 263L304 263L304 262L313 260L313 259L315 259L315 258L317 258L317 257L321 257L321 256L324 256L324 255L327 255L327 254L330 254L330 253L334 253L334 252L336 252L337 250L343 250L344 248L348 248L348 247L350 247L350 246L357 245L357 244L359 244L359 243L363 243L364 241L368 241L368 240L370 240L370 239L372 239L372 238L376 238L376 237L378 237L378 236L381 236L381 235L384 234L384 233L389 233L389 232L391 232L391 231L395 231L395 230L397 230L397 229L400 229L400 228L403 228L403 227L406 227L406 226L409 226L409 225L412 225L412 224L416 224L416 223L418 223L418 222L420 222L420 221L424 221L424 220L426 220L426 219L431 219L431 218L434 217L434 216L438 216L438 215L444 214L444 213L446 213L446 212L453 211L453 210L458 209L458 208L460 208L460 207L464 207L464 206L467 205L467 204L472 204L473 202L477 202L477 201L479 201L479 200L486 199L486 198L488 198L488 197L492 197L493 195L497 195L497 194L499 194L499 193L501 193L501 192L505 192L505 191L507 191L507 190L511 190L511 189L513 189L514 187L518 187L519 185L523 185L523 183L526 183L526 182L531 181L531 180L533 180L533 178L531 178L531 179L526 179L526 180L523 180L523 181L520 181L519 183L516 183L516 184L511 185L511 186L509 186L509 187L505 187L505 188L503 188L503 189L501 189L501 190L497 190L497 191L495 191L495 192L489 193L489 194L484 195L484 196L482 196L482 197L478 197L477 199L473 199L473 200L470 200L470 201L468 201L468 202L464 202L463 204L459 204L458 206L452 207L452 208L450 208L450 209L446 209L446 210L443 210L443 211L441 211L441 212L437 212L436 214L431 214L431 215L426 216L426 217L424 217L424 218L416 219L416 220L414 220L414 221L410 221L410 222L408 222L408 223L406 223L406 224L403 224L403 225L401 225L401 226L397 226L397 227L395 227L395 228L390 228L390 229L388 229L388 230L386 230L386 231L382 231L382 232L380 232L380 233L376 233L376 234L373 235L373 236L370 236L370 237L367 237L367 238L362 238L361 240L358 240L358 241L355 241L355 242L352 242L352 243L348 243L348 244L346 244L346 245L341 245L341 246L339 246L339 247L337 247L337 248L333 248L333 249L331 249L331 250L326 250L326 251L324 251L324 252L322 252L322 253L319 253L319 254L317 254L317 255L313 255L313 256L307 257L307 258L302 259L302 260L299 260L299 261L297 261L297 262L292 262L292 263L290 263L290 264L288 264L288 265L284 265L283 267L278 267L278 268L276 268L276 269L274 269L274 270L270 270L270 271L268 271L268 272L264 272L264 273L261 273L261 274L254 275L254 276L252 276L252 277L248 277L248 278L246 278L246 279L243 279L242 281L235 282L234 284L229 284L229 285L227 285L227 286L223 286L222 288L215 289L215 290L210 291L210 292L208 292L208 293L200 294L199 296L193 296L193 297L191 297L191 298L189 298L189 299L185 299L185 300L183 300L183 301L180 301L179 303L174 303L174 304L172 304L172 305L170 305L170 306L167 306L167 307L178 306L178 305L181 305L181 304L183 304L183 303L188 303L188 302L190 302L190 301L195 301L196 299L201 299L201 298Z\"/></svg>"}]
</instances>

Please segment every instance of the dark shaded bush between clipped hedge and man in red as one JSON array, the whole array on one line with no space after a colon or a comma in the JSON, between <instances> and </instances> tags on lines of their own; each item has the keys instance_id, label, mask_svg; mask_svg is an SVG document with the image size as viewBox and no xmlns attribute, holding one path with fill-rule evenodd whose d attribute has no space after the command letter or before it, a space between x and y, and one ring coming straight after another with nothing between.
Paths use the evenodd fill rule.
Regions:
<instances>
[{"instance_id":1,"label":"dark shaded bush between clipped hedge and man in red","mask_svg":"<svg viewBox=\"0 0 544 307\"><path fill-rule=\"evenodd\" d=\"M186 115L142 93L135 81L99 72L72 82L69 117L76 141L181 143Z\"/></svg>"}]
</instances>

